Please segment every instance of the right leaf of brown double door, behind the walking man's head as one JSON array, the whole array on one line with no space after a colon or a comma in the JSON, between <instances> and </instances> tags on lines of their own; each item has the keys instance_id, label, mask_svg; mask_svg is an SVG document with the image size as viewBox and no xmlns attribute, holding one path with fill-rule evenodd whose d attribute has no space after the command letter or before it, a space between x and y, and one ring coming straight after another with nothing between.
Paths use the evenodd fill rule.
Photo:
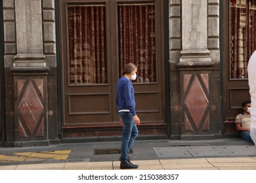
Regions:
<instances>
[{"instance_id":1,"label":"right leaf of brown double door, behind the walking man's head","mask_svg":"<svg viewBox=\"0 0 256 183\"><path fill-rule=\"evenodd\" d=\"M115 25L117 27L116 35L119 35L118 45L121 40L127 41L120 46L122 49L118 50L119 65L133 61L138 67L138 78L137 82L133 82L133 87L135 88L136 111L141 125L165 124L165 107L163 107L165 105L163 99L165 75L162 71L164 61L163 55L159 52L159 50L163 50L164 42L163 34L161 35L162 32L159 29L159 27L163 27L161 2L129 1L129 4L127 1L117 1L119 12L117 20L121 22L119 25ZM116 8L116 5L113 8ZM142 14L148 17L138 25L135 23L138 21L137 18L131 15L127 21L132 26L128 26L119 18L126 17L129 12L134 12L134 16L138 15L138 20L142 20ZM129 35L129 32L135 33L135 36ZM131 41L129 41L129 37L131 37ZM129 50L135 50L135 52L131 53ZM143 79L140 80L141 78Z\"/></svg>"}]
</instances>

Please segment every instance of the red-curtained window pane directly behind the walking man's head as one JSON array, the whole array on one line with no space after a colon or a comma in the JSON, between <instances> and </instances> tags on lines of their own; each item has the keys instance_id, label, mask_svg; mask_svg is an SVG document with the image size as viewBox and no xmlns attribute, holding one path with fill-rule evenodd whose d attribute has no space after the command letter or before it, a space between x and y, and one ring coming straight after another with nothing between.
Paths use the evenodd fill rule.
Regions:
<instances>
[{"instance_id":1,"label":"red-curtained window pane directly behind the walking man's head","mask_svg":"<svg viewBox=\"0 0 256 183\"><path fill-rule=\"evenodd\" d=\"M156 82L154 3L120 3L118 13L119 73L129 62L137 65L135 82Z\"/></svg>"}]
</instances>

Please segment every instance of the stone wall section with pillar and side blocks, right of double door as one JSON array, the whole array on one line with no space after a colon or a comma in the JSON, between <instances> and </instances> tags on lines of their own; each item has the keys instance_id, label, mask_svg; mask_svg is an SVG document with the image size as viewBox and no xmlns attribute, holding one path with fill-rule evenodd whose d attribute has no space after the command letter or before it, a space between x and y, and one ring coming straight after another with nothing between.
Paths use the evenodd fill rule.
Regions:
<instances>
[{"instance_id":1,"label":"stone wall section with pillar and side blocks, right of double door","mask_svg":"<svg viewBox=\"0 0 256 183\"><path fill-rule=\"evenodd\" d=\"M169 0L169 65L171 139L221 135L219 0Z\"/></svg>"}]
</instances>

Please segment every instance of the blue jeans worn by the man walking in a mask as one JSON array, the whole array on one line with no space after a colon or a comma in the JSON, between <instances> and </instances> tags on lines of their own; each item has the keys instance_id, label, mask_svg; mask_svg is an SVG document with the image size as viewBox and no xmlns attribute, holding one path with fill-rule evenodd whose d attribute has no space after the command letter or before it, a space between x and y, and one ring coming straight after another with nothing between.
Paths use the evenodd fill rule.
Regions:
<instances>
[{"instance_id":1,"label":"blue jeans worn by the man walking in a mask","mask_svg":"<svg viewBox=\"0 0 256 183\"><path fill-rule=\"evenodd\" d=\"M123 134L121 139L121 161L129 161L129 152L131 146L138 136L137 125L133 120L131 112L119 112L119 116L123 121Z\"/></svg>"}]
</instances>

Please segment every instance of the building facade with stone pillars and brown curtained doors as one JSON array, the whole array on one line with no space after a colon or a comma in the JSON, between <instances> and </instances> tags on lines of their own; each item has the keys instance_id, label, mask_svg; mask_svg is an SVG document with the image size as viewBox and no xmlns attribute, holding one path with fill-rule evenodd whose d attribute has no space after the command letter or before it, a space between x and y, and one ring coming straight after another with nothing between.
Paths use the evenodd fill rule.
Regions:
<instances>
[{"instance_id":1,"label":"building facade with stone pillars and brown curtained doors","mask_svg":"<svg viewBox=\"0 0 256 183\"><path fill-rule=\"evenodd\" d=\"M129 62L138 66L138 138L238 135L254 4L3 0L0 143L119 139L115 88Z\"/></svg>"}]
</instances>

